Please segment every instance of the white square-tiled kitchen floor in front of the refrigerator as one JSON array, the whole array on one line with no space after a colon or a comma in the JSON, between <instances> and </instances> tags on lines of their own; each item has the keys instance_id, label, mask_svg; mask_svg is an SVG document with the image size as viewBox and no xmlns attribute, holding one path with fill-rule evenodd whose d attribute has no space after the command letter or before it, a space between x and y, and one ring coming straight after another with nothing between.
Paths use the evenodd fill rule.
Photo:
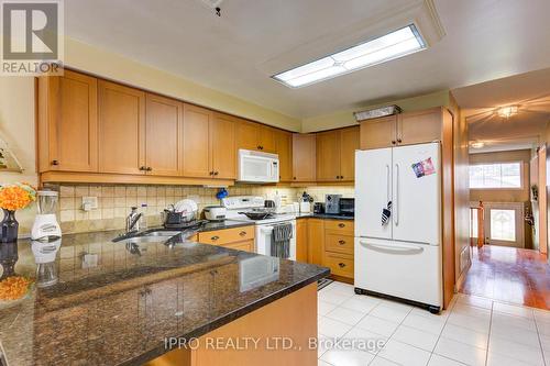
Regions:
<instances>
[{"instance_id":1,"label":"white square-tiled kitchen floor in front of the refrigerator","mask_svg":"<svg viewBox=\"0 0 550 366\"><path fill-rule=\"evenodd\" d=\"M550 366L550 311L459 293L432 315L342 282L318 299L319 366Z\"/></svg>"}]
</instances>

